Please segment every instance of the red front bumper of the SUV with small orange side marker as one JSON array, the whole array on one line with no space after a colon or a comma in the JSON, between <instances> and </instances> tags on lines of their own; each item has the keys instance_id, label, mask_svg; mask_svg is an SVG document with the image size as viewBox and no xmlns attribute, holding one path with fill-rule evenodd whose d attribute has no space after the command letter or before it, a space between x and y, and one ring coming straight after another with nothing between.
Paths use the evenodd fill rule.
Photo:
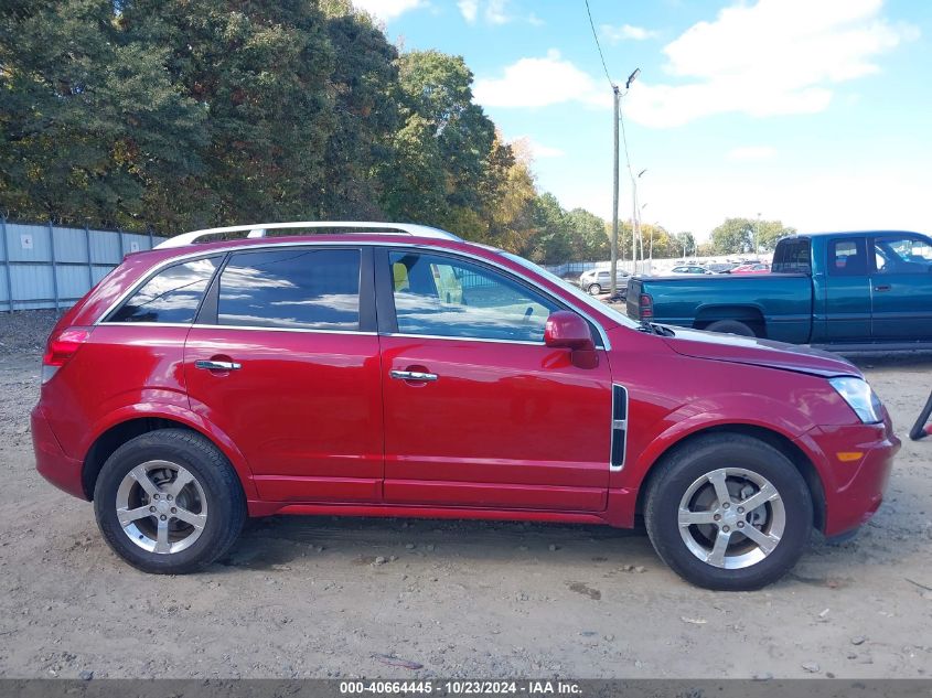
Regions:
<instances>
[{"instance_id":1,"label":"red front bumper of the SUV with small orange side marker","mask_svg":"<svg viewBox=\"0 0 932 698\"><path fill-rule=\"evenodd\" d=\"M816 427L800 443L814 459L825 494L826 536L865 524L883 501L900 440L889 419L880 425Z\"/></svg>"}]
</instances>

